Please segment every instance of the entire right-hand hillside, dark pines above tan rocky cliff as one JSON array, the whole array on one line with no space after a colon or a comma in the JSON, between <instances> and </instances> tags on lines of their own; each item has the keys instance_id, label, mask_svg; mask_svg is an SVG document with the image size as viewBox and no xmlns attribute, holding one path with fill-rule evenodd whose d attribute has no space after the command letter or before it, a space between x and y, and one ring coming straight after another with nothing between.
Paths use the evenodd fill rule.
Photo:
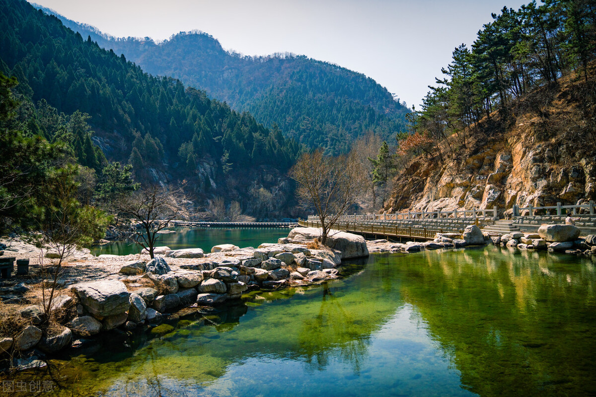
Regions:
<instances>
[{"instance_id":1,"label":"entire right-hand hillside, dark pines above tan rocky cliff","mask_svg":"<svg viewBox=\"0 0 596 397\"><path fill-rule=\"evenodd\" d=\"M493 19L415 114L384 210L596 199L596 3L532 2Z\"/></svg>"}]
</instances>

